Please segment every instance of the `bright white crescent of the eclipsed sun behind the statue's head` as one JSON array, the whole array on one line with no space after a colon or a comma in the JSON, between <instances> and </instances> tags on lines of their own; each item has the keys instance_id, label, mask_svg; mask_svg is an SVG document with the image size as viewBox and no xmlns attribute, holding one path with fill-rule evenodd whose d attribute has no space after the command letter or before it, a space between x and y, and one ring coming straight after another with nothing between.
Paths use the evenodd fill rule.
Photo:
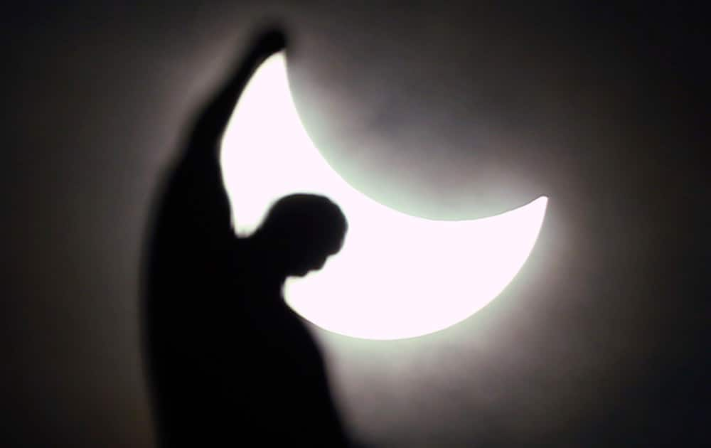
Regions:
<instances>
[{"instance_id":1,"label":"bright white crescent of the eclipsed sun behind the statue's head","mask_svg":"<svg viewBox=\"0 0 711 448\"><path fill-rule=\"evenodd\" d=\"M339 176L306 134L284 52L257 68L223 139L235 230L252 233L278 198L316 193L348 218L343 249L319 272L289 278L284 297L317 326L358 338L429 334L466 319L518 273L547 198L478 220L429 220L368 198Z\"/></svg>"}]
</instances>

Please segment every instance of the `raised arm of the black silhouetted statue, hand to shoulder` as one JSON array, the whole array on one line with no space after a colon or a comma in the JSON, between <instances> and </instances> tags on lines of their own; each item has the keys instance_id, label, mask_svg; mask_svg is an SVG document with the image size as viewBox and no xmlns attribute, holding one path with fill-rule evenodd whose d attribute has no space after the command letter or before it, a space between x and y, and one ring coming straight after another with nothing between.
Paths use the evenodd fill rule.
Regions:
<instances>
[{"instance_id":1,"label":"raised arm of the black silhouetted statue, hand to shoulder","mask_svg":"<svg viewBox=\"0 0 711 448\"><path fill-rule=\"evenodd\" d=\"M205 250L206 254L214 254L235 240L220 168L220 142L250 76L262 60L282 50L285 44L279 31L262 33L247 55L235 61L224 84L188 125L181 152L169 168L160 192L154 251L165 253L179 247L181 253Z\"/></svg>"}]
</instances>

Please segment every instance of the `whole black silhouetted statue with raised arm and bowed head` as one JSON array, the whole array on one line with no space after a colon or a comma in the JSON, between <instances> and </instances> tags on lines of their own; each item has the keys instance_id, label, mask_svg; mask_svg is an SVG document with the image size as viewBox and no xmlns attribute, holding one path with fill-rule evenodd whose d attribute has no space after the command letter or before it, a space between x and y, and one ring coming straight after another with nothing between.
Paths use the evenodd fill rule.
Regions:
<instances>
[{"instance_id":1,"label":"whole black silhouetted statue with raised arm and bowed head","mask_svg":"<svg viewBox=\"0 0 711 448\"><path fill-rule=\"evenodd\" d=\"M282 297L289 275L337 252L346 219L321 196L282 198L240 239L220 139L253 70L284 48L264 34L198 114L156 206L144 338L160 447L343 447L319 348Z\"/></svg>"}]
</instances>

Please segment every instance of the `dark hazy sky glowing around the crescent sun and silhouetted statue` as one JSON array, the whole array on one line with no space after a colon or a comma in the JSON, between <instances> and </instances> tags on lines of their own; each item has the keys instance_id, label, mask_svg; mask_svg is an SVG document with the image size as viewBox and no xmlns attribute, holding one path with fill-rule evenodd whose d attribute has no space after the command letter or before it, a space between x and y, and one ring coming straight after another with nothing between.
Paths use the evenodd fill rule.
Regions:
<instances>
[{"instance_id":1,"label":"dark hazy sky glowing around the crescent sun and silhouetted statue","mask_svg":"<svg viewBox=\"0 0 711 448\"><path fill-rule=\"evenodd\" d=\"M354 434L709 443L700 9L178 3L28 1L0 19L1 446L151 446L138 310L156 186L274 18L306 128L365 193L433 218L550 197L522 272L463 323L394 342L314 330Z\"/></svg>"}]
</instances>

